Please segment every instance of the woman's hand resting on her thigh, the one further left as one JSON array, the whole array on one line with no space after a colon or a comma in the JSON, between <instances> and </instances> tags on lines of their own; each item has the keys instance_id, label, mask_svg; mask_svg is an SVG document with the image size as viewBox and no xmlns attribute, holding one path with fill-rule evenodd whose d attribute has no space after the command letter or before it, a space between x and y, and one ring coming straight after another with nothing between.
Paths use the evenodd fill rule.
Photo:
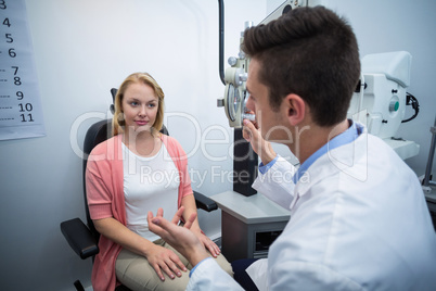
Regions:
<instances>
[{"instance_id":1,"label":"woman's hand resting on her thigh, the one further left","mask_svg":"<svg viewBox=\"0 0 436 291\"><path fill-rule=\"evenodd\" d=\"M169 278L174 279L176 278L175 276L181 276L181 270L188 270L175 252L161 245L155 244L151 248L150 252L146 254L146 260L163 281L165 277L162 271L165 271Z\"/></svg>"}]
</instances>

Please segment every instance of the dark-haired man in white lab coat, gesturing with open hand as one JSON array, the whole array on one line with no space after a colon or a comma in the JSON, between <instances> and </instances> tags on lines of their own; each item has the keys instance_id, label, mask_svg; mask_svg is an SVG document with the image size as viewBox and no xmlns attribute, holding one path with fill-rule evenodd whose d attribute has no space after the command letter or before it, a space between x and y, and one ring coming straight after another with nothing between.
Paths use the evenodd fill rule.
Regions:
<instances>
[{"instance_id":1,"label":"dark-haired man in white lab coat, gesturing with open hand","mask_svg":"<svg viewBox=\"0 0 436 291\"><path fill-rule=\"evenodd\" d=\"M436 290L436 236L416 176L346 118L360 74L351 27L325 8L299 8L246 30L243 50L252 58L247 107L261 137L286 144L302 164L293 195L277 201L291 220L258 269L258 288ZM261 140L252 124L246 130L252 143ZM278 170L274 159L266 173ZM243 290L189 230L194 218L178 227L158 211L149 225L195 266L188 290Z\"/></svg>"}]
</instances>

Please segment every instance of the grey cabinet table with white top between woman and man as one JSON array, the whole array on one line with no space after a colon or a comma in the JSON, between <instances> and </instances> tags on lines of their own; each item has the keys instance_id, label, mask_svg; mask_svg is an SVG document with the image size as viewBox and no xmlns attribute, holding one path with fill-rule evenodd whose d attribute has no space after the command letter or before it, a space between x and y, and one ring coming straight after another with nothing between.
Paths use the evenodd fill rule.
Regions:
<instances>
[{"instance_id":1,"label":"grey cabinet table with white top between woman and man","mask_svg":"<svg viewBox=\"0 0 436 291\"><path fill-rule=\"evenodd\" d=\"M291 217L290 211L260 193L244 197L227 191L210 199L222 210L222 254L229 262L267 257L269 245Z\"/></svg>"}]
</instances>

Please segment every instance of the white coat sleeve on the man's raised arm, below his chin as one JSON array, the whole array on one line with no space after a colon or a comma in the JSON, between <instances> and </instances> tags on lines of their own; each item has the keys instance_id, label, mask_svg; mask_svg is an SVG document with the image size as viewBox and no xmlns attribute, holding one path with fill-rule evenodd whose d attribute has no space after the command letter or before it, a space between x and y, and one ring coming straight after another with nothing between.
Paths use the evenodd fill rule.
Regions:
<instances>
[{"instance_id":1,"label":"white coat sleeve on the man's raised arm, below his chin","mask_svg":"<svg viewBox=\"0 0 436 291\"><path fill-rule=\"evenodd\" d=\"M266 173L259 172L252 187L283 208L288 210L294 199L295 185L292 177L295 172L294 165L278 155L275 163Z\"/></svg>"}]
</instances>

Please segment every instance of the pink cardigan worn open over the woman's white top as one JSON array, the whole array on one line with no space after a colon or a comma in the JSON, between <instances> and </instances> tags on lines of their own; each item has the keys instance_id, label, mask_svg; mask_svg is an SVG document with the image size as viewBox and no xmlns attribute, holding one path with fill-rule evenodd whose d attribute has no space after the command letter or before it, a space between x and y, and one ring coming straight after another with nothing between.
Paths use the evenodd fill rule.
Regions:
<instances>
[{"instance_id":1,"label":"pink cardigan worn open over the woman's white top","mask_svg":"<svg viewBox=\"0 0 436 291\"><path fill-rule=\"evenodd\" d=\"M88 159L86 187L92 219L114 217L126 225L121 138L123 135L115 136L92 150ZM161 135L161 139L179 170L177 205L180 207L182 198L193 193L187 154L176 139L165 135ZM121 246L101 236L99 248L100 253L95 256L92 269L93 290L114 290L117 284L115 262Z\"/></svg>"}]
</instances>

